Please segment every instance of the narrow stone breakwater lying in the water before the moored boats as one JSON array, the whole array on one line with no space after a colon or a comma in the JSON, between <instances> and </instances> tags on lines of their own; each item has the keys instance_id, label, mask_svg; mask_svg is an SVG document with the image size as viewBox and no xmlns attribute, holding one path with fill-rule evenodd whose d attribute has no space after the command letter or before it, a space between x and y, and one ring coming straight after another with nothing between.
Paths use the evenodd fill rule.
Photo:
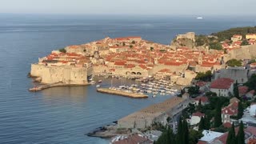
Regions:
<instances>
[{"instance_id":1,"label":"narrow stone breakwater lying in the water before the moored boats","mask_svg":"<svg viewBox=\"0 0 256 144\"><path fill-rule=\"evenodd\" d=\"M100 93L120 95L120 96L124 96L124 97L129 97L129 98L148 98L148 96L146 94L128 93L126 91L111 90L111 89L107 89L107 88L98 88L97 91Z\"/></svg>"}]
</instances>

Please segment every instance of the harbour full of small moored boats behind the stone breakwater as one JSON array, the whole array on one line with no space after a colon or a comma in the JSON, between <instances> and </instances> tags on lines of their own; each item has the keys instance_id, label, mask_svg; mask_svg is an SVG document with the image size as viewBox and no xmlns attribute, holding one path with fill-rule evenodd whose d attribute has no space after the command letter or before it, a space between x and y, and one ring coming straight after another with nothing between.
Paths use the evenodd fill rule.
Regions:
<instances>
[{"instance_id":1,"label":"harbour full of small moored boats behind the stone breakwater","mask_svg":"<svg viewBox=\"0 0 256 144\"><path fill-rule=\"evenodd\" d=\"M96 78L101 78L104 76L96 76ZM106 78L110 79L110 78ZM94 81L93 78L91 78ZM115 80L115 85L113 85L113 80ZM127 82L126 80L129 80ZM138 95L146 95L148 97L156 98L158 96L174 96L180 94L181 86L175 85L173 82L170 82L167 78L157 79L154 77L143 78L144 82L138 82L129 78L120 78L120 77L112 77L111 78L111 86L97 85L97 88L104 88L111 91L112 94L114 91L118 91L118 94L138 94ZM118 82L116 82L118 81ZM101 80L102 82L102 80ZM104 82L103 82L104 83ZM118 84L119 83L119 84ZM101 83L102 84L102 83ZM118 85L117 85L118 84ZM102 90L99 89L101 92ZM105 91L104 91L105 92ZM115 93L114 93L115 94Z\"/></svg>"}]
</instances>

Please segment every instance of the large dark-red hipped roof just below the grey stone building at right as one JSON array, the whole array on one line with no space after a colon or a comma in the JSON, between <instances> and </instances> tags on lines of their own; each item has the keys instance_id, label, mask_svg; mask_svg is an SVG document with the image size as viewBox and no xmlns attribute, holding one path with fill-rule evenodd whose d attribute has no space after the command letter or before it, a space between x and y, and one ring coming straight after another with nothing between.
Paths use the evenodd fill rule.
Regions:
<instances>
[{"instance_id":1,"label":"large dark-red hipped roof just below the grey stone building at right","mask_svg":"<svg viewBox=\"0 0 256 144\"><path fill-rule=\"evenodd\" d=\"M229 89L230 86L234 83L233 79L230 78L218 78L211 83L210 88L214 89Z\"/></svg>"}]
</instances>

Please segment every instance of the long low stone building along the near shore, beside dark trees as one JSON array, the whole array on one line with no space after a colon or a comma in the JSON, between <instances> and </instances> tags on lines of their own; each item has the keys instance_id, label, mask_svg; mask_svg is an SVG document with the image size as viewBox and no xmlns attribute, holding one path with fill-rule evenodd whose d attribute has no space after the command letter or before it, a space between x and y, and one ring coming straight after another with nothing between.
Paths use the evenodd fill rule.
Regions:
<instances>
[{"instance_id":1,"label":"long low stone building along the near shore, beside dark trees","mask_svg":"<svg viewBox=\"0 0 256 144\"><path fill-rule=\"evenodd\" d=\"M119 128L141 128L144 129L151 126L153 122L160 122L162 125L166 125L166 119L172 118L175 114L183 110L189 100L187 97L174 97L146 107L145 109L139 110L133 114L121 118L118 120Z\"/></svg>"}]
</instances>

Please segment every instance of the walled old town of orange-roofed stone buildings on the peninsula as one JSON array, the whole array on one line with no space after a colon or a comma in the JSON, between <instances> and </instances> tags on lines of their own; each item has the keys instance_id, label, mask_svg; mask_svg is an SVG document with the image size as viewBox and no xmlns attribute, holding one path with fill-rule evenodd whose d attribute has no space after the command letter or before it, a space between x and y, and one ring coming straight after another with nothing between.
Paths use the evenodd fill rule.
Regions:
<instances>
[{"instance_id":1,"label":"walled old town of orange-roofed stone buildings on the peninsula","mask_svg":"<svg viewBox=\"0 0 256 144\"><path fill-rule=\"evenodd\" d=\"M55 83L87 85L95 74L125 78L168 77L177 85L190 86L198 73L221 70L232 58L256 56L254 34L234 34L230 42L219 42L218 34L178 34L170 45L141 37L124 37L66 46L38 58L38 63L31 65L30 76L49 85L46 87ZM248 45L242 46L243 42Z\"/></svg>"}]
</instances>

